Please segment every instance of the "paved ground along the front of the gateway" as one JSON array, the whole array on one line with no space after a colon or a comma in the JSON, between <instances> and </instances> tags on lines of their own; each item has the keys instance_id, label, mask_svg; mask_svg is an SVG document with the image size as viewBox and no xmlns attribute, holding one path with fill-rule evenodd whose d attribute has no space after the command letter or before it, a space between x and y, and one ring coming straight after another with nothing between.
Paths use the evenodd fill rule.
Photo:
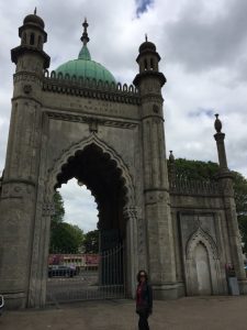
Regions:
<instances>
[{"instance_id":1,"label":"paved ground along the front of the gateway","mask_svg":"<svg viewBox=\"0 0 247 330\"><path fill-rule=\"evenodd\" d=\"M150 330L246 330L247 296L155 301ZM4 311L1 330L136 330L134 301L87 301L41 310Z\"/></svg>"}]
</instances>

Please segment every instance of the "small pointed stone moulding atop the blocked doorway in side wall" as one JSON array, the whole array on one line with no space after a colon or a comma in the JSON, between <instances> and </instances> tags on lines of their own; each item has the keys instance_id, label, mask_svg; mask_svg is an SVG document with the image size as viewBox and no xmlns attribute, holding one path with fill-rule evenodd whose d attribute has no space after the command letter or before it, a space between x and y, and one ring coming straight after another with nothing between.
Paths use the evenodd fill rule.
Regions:
<instances>
[{"instance_id":1,"label":"small pointed stone moulding atop the blocked doorway in side wall","mask_svg":"<svg viewBox=\"0 0 247 330\"><path fill-rule=\"evenodd\" d=\"M197 229L197 231L189 239L186 246L186 258L192 260L193 252L198 244L202 243L209 253L209 256L212 256L214 260L218 260L217 246L212 239L212 237L206 233L201 227Z\"/></svg>"}]
</instances>

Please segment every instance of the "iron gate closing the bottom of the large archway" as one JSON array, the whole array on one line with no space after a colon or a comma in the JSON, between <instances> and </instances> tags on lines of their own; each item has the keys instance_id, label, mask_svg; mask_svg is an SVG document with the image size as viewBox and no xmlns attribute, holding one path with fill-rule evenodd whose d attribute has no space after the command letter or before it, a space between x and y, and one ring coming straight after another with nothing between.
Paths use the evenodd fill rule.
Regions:
<instances>
[{"instance_id":1,"label":"iron gate closing the bottom of the large archway","mask_svg":"<svg viewBox=\"0 0 247 330\"><path fill-rule=\"evenodd\" d=\"M124 244L99 254L50 254L46 302L125 298Z\"/></svg>"}]
</instances>

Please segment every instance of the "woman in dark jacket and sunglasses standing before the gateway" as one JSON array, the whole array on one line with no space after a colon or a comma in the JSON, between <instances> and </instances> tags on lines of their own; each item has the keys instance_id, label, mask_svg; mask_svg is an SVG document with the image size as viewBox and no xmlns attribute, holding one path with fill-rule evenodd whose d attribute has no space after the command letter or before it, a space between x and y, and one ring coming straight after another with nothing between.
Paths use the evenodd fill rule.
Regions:
<instances>
[{"instance_id":1,"label":"woman in dark jacket and sunglasses standing before the gateway","mask_svg":"<svg viewBox=\"0 0 247 330\"><path fill-rule=\"evenodd\" d=\"M153 309L153 290L145 271L137 274L136 312L139 315L139 330L149 330L148 317Z\"/></svg>"}]
</instances>

